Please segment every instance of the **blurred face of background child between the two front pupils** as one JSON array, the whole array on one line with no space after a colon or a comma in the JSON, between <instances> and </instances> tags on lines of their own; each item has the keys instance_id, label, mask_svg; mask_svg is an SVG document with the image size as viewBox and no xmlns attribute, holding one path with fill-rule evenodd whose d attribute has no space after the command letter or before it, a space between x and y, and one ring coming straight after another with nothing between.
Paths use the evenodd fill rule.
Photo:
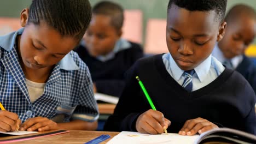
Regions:
<instances>
[{"instance_id":1,"label":"blurred face of background child between the two front pupils","mask_svg":"<svg viewBox=\"0 0 256 144\"><path fill-rule=\"evenodd\" d=\"M120 36L121 30L111 26L109 16L92 14L90 25L83 39L90 54L99 56L112 51Z\"/></svg>"}]
</instances>

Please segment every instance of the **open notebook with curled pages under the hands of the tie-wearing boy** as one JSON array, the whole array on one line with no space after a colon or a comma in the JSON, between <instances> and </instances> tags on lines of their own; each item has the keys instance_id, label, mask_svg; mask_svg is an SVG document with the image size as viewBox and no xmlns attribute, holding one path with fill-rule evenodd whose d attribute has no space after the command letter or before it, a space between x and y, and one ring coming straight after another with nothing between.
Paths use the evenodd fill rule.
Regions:
<instances>
[{"instance_id":1,"label":"open notebook with curled pages under the hands of the tie-wearing boy","mask_svg":"<svg viewBox=\"0 0 256 144\"><path fill-rule=\"evenodd\" d=\"M161 134L161 135L149 135L141 134L131 131L122 131L113 139L107 142L108 144L194 144L194 143L256 143L256 136L245 133L243 131L219 128L207 131L201 135L182 136L179 134Z\"/></svg>"}]
</instances>

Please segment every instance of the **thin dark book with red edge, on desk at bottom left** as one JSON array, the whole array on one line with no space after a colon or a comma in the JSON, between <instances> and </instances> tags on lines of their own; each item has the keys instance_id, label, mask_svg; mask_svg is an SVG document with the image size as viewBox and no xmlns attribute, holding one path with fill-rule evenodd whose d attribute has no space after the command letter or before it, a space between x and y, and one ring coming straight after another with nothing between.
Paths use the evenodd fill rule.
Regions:
<instances>
[{"instance_id":1,"label":"thin dark book with red edge, on desk at bottom left","mask_svg":"<svg viewBox=\"0 0 256 144\"><path fill-rule=\"evenodd\" d=\"M39 134L28 135L28 136L9 136L9 134L0 134L0 144L31 140L31 139L36 139L38 137L64 134L64 133L68 133L68 132L69 132L68 130L57 130L57 131L51 131L49 133L39 133ZM4 138L4 139L2 139L2 138Z\"/></svg>"}]
</instances>

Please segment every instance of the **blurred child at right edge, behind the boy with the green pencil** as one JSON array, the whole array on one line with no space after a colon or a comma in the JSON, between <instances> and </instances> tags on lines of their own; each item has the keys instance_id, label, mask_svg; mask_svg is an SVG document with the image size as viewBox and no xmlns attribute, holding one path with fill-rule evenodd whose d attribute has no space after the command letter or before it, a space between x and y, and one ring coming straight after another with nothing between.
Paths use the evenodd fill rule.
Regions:
<instances>
[{"instance_id":1,"label":"blurred child at right edge, behind the boy with the green pencil","mask_svg":"<svg viewBox=\"0 0 256 144\"><path fill-rule=\"evenodd\" d=\"M252 7L238 4L225 17L226 34L214 47L212 55L231 69L242 74L256 92L256 67L245 56L245 50L256 35L256 13Z\"/></svg>"}]
</instances>

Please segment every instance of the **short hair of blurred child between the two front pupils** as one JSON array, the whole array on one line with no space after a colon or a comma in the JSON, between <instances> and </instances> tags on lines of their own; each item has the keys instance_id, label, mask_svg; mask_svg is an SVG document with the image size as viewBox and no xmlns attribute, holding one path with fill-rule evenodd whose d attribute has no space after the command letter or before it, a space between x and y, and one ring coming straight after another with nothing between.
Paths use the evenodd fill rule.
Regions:
<instances>
[{"instance_id":1,"label":"short hair of blurred child between the two front pupils","mask_svg":"<svg viewBox=\"0 0 256 144\"><path fill-rule=\"evenodd\" d=\"M109 1L102 1L97 3L92 8L92 14L107 15L110 17L110 25L119 30L124 23L124 9L121 5Z\"/></svg>"}]
</instances>

